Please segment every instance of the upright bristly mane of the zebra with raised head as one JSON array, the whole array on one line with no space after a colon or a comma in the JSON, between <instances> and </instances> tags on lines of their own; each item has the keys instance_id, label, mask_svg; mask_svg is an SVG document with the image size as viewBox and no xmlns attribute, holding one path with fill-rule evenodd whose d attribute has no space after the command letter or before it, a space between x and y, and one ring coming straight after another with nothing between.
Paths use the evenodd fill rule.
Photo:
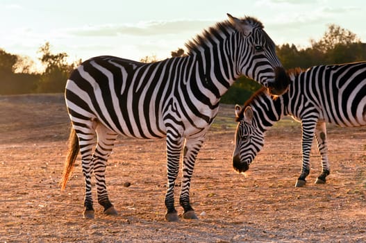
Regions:
<instances>
[{"instance_id":1,"label":"upright bristly mane of the zebra with raised head","mask_svg":"<svg viewBox=\"0 0 366 243\"><path fill-rule=\"evenodd\" d=\"M242 22L247 22L251 26L255 28L265 28L258 19L254 17L244 17L240 19ZM188 49L188 55L198 52L199 47L202 47L205 45L206 42L211 40L211 37L217 37L217 39L222 39L221 33L225 33L225 35L228 35L228 32L236 31L235 27L228 22L228 20L224 20L223 22L218 22L215 24L215 26L211 26L208 29L204 30L203 33L197 35L189 42L185 43L185 47Z\"/></svg>"}]
</instances>

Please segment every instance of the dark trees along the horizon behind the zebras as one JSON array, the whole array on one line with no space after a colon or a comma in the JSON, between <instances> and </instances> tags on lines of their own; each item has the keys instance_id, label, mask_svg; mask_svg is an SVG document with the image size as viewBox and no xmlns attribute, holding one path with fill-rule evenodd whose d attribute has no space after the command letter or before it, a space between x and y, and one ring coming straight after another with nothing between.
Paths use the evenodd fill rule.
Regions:
<instances>
[{"instance_id":1,"label":"dark trees along the horizon behind the zebras","mask_svg":"<svg viewBox=\"0 0 366 243\"><path fill-rule=\"evenodd\" d=\"M0 94L55 93L64 92L67 78L81 60L67 62L67 53L52 53L46 42L38 53L44 66L43 72L34 72L29 58L7 53L0 49ZM276 46L276 53L285 69L308 68L366 60L366 43L340 26L331 24L320 40L310 40L310 47L298 48L294 44ZM184 50L172 51L172 57L184 56ZM156 56L141 58L142 62L154 62ZM260 85L244 76L238 78L222 97L222 103L244 103Z\"/></svg>"}]
</instances>

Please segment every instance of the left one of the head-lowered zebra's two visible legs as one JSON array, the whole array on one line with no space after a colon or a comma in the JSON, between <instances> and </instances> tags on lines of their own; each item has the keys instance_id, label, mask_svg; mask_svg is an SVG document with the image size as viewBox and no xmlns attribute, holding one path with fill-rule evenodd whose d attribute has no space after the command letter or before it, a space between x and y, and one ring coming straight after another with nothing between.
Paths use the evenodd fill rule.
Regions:
<instances>
[{"instance_id":1,"label":"left one of the head-lowered zebra's two visible legs","mask_svg":"<svg viewBox=\"0 0 366 243\"><path fill-rule=\"evenodd\" d=\"M316 121L313 119L306 120L303 119L301 122L301 130L302 130L302 168L301 174L299 178L297 178L297 182L295 187L302 187L306 184L306 176L310 173L310 150L311 144L313 142L314 131L315 131Z\"/></svg>"}]
</instances>

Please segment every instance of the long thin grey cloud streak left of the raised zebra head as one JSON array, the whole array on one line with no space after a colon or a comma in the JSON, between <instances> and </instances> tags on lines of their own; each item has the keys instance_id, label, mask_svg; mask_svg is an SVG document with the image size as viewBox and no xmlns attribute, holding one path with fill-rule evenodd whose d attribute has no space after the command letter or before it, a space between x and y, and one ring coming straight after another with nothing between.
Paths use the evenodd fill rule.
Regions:
<instances>
[{"instance_id":1,"label":"long thin grey cloud streak left of the raised zebra head","mask_svg":"<svg viewBox=\"0 0 366 243\"><path fill-rule=\"evenodd\" d=\"M176 21L152 21L140 22L138 24L103 24L96 26L85 26L83 28L73 28L67 33L75 36L99 37L99 36L151 36L169 35L176 33L193 33L203 30L214 22L208 20L176 20Z\"/></svg>"}]
</instances>

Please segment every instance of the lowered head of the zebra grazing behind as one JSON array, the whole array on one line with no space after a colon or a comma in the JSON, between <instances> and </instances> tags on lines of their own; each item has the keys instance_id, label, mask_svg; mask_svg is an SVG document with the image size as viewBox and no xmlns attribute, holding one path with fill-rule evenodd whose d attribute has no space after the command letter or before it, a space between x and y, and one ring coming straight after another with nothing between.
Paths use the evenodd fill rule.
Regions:
<instances>
[{"instance_id":1,"label":"lowered head of the zebra grazing behind","mask_svg":"<svg viewBox=\"0 0 366 243\"><path fill-rule=\"evenodd\" d=\"M235 106L235 117L239 123L235 131L233 167L241 173L249 169L249 165L262 149L265 136L253 122L253 110L250 106L244 109Z\"/></svg>"}]
</instances>

